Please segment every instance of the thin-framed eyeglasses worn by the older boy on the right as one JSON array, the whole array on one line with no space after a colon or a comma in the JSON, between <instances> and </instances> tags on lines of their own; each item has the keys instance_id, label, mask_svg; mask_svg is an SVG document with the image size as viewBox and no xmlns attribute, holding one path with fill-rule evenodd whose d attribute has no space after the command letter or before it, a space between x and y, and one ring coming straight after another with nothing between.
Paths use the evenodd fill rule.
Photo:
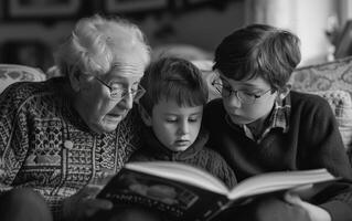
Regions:
<instances>
[{"instance_id":1,"label":"thin-framed eyeglasses worn by the older boy on the right","mask_svg":"<svg viewBox=\"0 0 352 221\"><path fill-rule=\"evenodd\" d=\"M232 94L235 94L236 97L244 104L254 104L257 99L266 95L268 92L273 93L273 90L263 92L262 94L253 94L245 91L235 91L231 86L224 86L218 80L212 82L212 85L224 98L228 98Z\"/></svg>"}]
</instances>

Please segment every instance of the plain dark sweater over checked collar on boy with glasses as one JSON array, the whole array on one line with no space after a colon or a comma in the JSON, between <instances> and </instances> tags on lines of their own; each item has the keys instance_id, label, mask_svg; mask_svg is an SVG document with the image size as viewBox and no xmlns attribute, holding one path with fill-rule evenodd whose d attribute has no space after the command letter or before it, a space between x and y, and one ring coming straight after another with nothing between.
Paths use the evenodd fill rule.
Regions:
<instances>
[{"instance_id":1,"label":"plain dark sweater over checked collar on boy with glasses","mask_svg":"<svg viewBox=\"0 0 352 221\"><path fill-rule=\"evenodd\" d=\"M268 171L314 168L327 168L352 180L351 165L329 104L317 95L291 92L290 96L288 131L274 128L259 144L247 138L239 127L227 124L222 101L212 101L203 117L211 134L210 146L221 152L238 181ZM352 218L351 183L337 183L339 193L329 191L326 199L317 202L330 212L333 221Z\"/></svg>"}]
</instances>

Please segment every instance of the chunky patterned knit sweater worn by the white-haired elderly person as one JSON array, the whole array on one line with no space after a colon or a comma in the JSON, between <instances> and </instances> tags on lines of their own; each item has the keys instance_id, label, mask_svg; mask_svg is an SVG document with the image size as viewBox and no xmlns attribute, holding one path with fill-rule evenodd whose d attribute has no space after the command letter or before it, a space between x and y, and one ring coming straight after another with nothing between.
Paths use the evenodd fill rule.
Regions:
<instances>
[{"instance_id":1,"label":"chunky patterned knit sweater worn by the white-haired elderly person","mask_svg":"<svg viewBox=\"0 0 352 221\"><path fill-rule=\"evenodd\" d=\"M138 112L113 133L89 130L64 96L63 77L10 85L0 96L0 192L29 187L62 215L62 200L107 172L118 172L140 146ZM70 140L72 145L64 145Z\"/></svg>"}]
</instances>

